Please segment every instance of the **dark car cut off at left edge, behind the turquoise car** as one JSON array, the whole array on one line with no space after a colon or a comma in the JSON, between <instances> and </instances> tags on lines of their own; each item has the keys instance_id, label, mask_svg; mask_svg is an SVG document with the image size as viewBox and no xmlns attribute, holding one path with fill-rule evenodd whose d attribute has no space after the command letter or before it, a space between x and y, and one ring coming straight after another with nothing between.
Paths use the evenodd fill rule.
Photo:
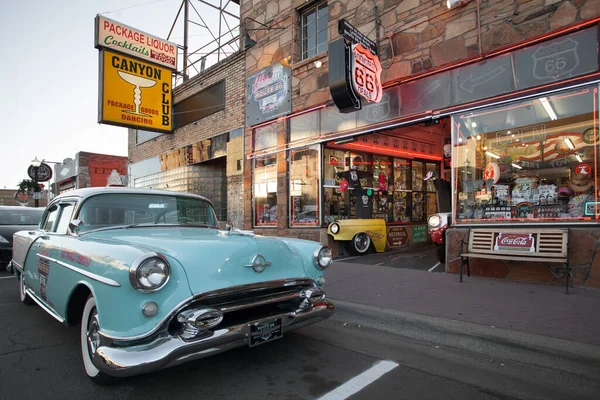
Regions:
<instances>
[{"instance_id":1,"label":"dark car cut off at left edge, behind the turquoise car","mask_svg":"<svg viewBox=\"0 0 600 400\"><path fill-rule=\"evenodd\" d=\"M43 208L0 206L0 267L12 258L12 238L15 232L37 229Z\"/></svg>"}]
</instances>

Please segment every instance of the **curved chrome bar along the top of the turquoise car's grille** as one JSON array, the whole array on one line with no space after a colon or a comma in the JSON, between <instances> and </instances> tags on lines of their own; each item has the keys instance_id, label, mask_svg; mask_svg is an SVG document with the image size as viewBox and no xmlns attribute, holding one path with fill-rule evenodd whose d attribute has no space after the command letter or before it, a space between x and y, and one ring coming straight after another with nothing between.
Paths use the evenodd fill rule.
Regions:
<instances>
[{"instance_id":1,"label":"curved chrome bar along the top of the turquoise car's grille","mask_svg":"<svg viewBox=\"0 0 600 400\"><path fill-rule=\"evenodd\" d=\"M292 278L292 279L279 279L279 280L275 280L275 281L267 281L267 282L260 282L260 283L251 283L248 285L238 285L238 286L232 286L232 287L225 288L225 289L212 290L212 291L208 291L208 292L199 293L194 296L190 296L190 297L184 299L183 301L181 301L179 304L177 304L175 307L173 307L173 309L170 313L165 315L164 318L162 318L159 322L157 322L156 325L154 326L154 328L152 330L150 330L148 333L143 333L141 335L136 335L136 336L119 337L119 336L113 336L108 333L102 332L102 327L100 328L99 333L107 339L116 340L116 341L130 341L130 340L144 339L148 336L155 334L165 324L165 322L167 320L173 318L173 316L175 314L177 314L179 312L179 310L181 310L186 304L191 303L193 301L207 300L207 299L211 299L214 297L226 296L226 295L231 295L231 294L236 294L236 293L241 293L241 292L248 292L248 291L258 290L258 289L272 289L272 288L277 288L277 287L286 287L286 286L294 286L294 285L311 285L311 286L317 287L317 284L315 283L315 281L313 279Z\"/></svg>"}]
</instances>

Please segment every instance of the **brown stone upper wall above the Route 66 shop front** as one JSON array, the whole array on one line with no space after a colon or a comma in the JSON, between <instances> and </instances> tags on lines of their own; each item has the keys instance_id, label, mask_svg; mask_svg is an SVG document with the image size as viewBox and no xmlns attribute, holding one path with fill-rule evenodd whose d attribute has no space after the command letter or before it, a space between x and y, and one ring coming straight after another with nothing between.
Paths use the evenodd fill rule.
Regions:
<instances>
[{"instance_id":1,"label":"brown stone upper wall above the Route 66 shop front","mask_svg":"<svg viewBox=\"0 0 600 400\"><path fill-rule=\"evenodd\" d=\"M257 43L246 52L246 72L252 74L291 57L294 111L331 99L327 53L308 60L300 57L297 10L316 3L242 0L242 20L250 17L268 26L288 28L249 32ZM328 5L329 41L339 37L337 21L341 18L375 40L377 6L384 83L600 16L600 0L480 0L451 10L442 0L330 0ZM250 20L246 22L246 28L260 27ZM321 68L315 68L317 60L323 62Z\"/></svg>"}]
</instances>

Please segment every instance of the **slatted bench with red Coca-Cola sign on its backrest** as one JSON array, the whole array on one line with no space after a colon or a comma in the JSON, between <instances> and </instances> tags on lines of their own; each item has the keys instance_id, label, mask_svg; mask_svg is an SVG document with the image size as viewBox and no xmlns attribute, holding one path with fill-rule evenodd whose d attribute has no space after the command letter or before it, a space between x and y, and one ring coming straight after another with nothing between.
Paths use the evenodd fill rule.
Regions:
<instances>
[{"instance_id":1,"label":"slatted bench with red Coca-Cola sign on its backrest","mask_svg":"<svg viewBox=\"0 0 600 400\"><path fill-rule=\"evenodd\" d=\"M462 244L460 282L465 265L467 276L471 276L470 258L558 263L563 265L567 278L566 292L569 293L569 229L472 228L468 242L463 240Z\"/></svg>"}]
</instances>

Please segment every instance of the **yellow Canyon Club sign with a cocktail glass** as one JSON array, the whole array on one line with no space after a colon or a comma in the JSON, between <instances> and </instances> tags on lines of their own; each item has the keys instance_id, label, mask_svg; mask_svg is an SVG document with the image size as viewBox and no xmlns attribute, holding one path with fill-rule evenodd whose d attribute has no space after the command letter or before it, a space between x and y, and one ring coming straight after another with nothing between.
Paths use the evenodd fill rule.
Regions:
<instances>
[{"instance_id":1,"label":"yellow Canyon Club sign with a cocktail glass","mask_svg":"<svg viewBox=\"0 0 600 400\"><path fill-rule=\"evenodd\" d=\"M98 122L171 132L171 78L169 69L102 50Z\"/></svg>"}]
</instances>

